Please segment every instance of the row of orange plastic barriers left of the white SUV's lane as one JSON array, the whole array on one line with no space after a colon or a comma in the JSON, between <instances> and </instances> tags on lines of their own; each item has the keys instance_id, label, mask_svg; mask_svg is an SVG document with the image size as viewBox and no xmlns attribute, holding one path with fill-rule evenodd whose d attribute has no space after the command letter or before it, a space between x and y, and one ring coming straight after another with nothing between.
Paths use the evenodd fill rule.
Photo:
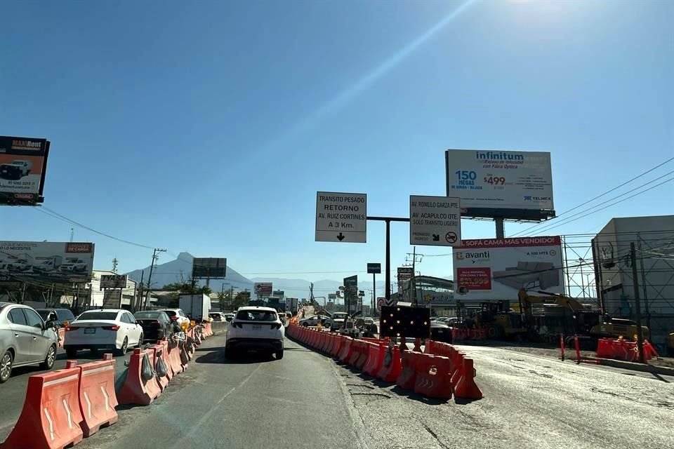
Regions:
<instances>
[{"instance_id":1,"label":"row of orange plastic barriers left of the white SUV's lane","mask_svg":"<svg viewBox=\"0 0 674 449\"><path fill-rule=\"evenodd\" d=\"M84 365L69 360L65 369L30 376L19 419L0 449L76 445L117 422L118 405L152 403L173 377L183 373L197 344L210 335L211 323L206 323L188 330L184 341L161 340L146 349L134 349L119 393L112 354Z\"/></svg>"}]
</instances>

